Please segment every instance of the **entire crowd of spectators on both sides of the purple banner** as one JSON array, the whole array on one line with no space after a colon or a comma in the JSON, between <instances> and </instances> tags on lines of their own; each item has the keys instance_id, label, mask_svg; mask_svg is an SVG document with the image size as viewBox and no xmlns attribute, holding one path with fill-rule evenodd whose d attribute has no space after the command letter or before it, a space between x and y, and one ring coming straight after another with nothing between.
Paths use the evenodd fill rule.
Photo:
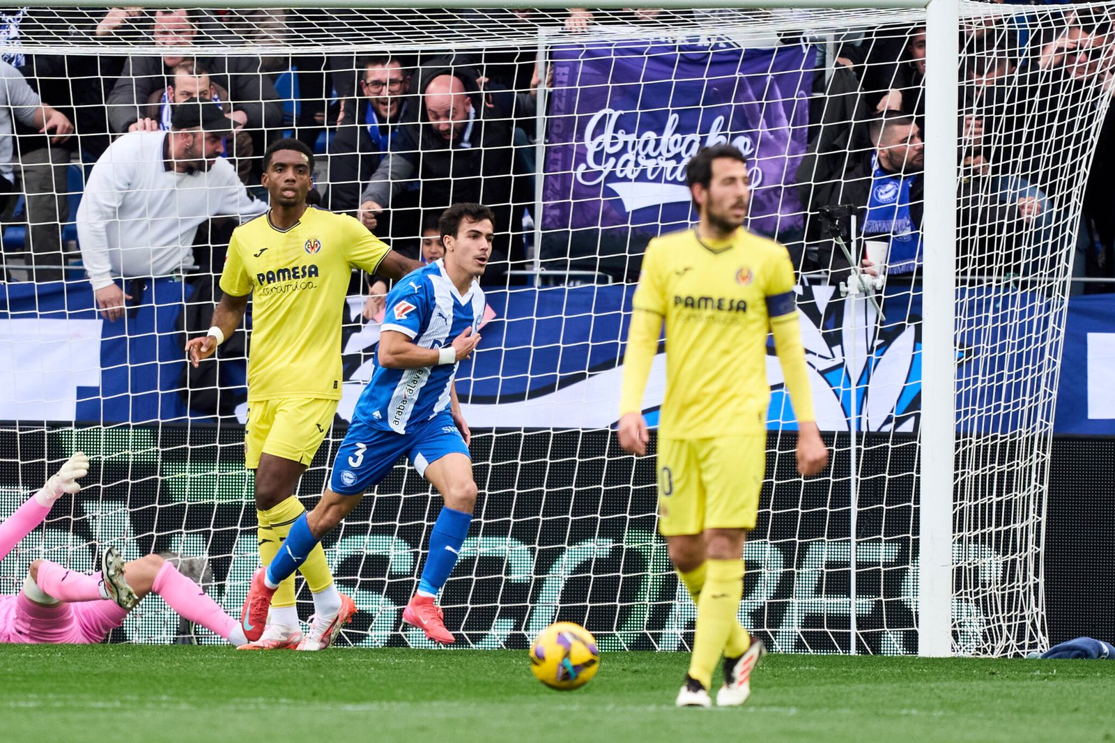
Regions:
<instances>
[{"instance_id":1,"label":"entire crowd of spectators on both sides of the purple banner","mask_svg":"<svg viewBox=\"0 0 1115 743\"><path fill-rule=\"evenodd\" d=\"M37 35L78 46L108 41L119 49L2 55L0 225L26 225L22 245L6 241L7 280L52 281L84 271L94 282L98 306L106 317L115 317L108 310L130 296L130 279L219 272L222 242L235 222L266 209L258 201L259 153L269 141L289 134L322 154L316 173L322 205L359 218L411 257L435 258L427 226L449 204L491 204L500 240L485 280L523 280L515 269L529 267L529 257L539 249L530 229L537 216L540 167L533 143L541 84L535 48L456 48L411 57L277 56L284 39L310 31L340 37L366 20L366 13L387 11L66 12L0 13L0 49L4 40ZM391 33L407 33L407 13L420 12L391 11L391 22L384 25L385 44ZM437 12L444 13L446 38L457 22L494 29L541 23L575 33L599 23L653 22L660 13ZM724 12L757 11L695 11L705 21ZM60 23L59 18L68 20ZM1072 240L1078 276L1115 276L1115 204L1105 180L1108 165L1115 164L1112 116L1083 204L1073 199L1074 168L1087 166L1080 154L1089 127L1082 122L1102 105L1097 90L1109 95L1113 87L1113 19L1101 10L1046 12L1041 18L1032 22L1019 8L1015 15L969 23L961 38L957 157L963 172L958 193L962 274L1043 277L1054 268L1048 245ZM413 28L429 33L432 25ZM165 54L127 54L137 40L148 48L166 47ZM780 39L802 41L801 36ZM183 52L197 45L245 42L263 45L261 54ZM803 272L840 276L847 262L835 249L834 228L824 215L831 208L851 206L863 237L890 242L890 273L915 280L924 213L925 29L883 27L846 35L837 47L821 46L827 54L818 55L809 145L796 174L804 228L775 237L789 244ZM284 108L293 86L298 105ZM185 104L200 103L204 114L176 116L178 108L193 110ZM191 117L205 117L209 128L214 128L214 117L225 119L229 136L221 145L220 167L197 166L211 143L183 128ZM197 152L201 160L194 157ZM120 157L134 162L124 166ZM80 210L68 197L72 165L80 168L84 184ZM193 204L188 214L168 195L168 189L185 193L210 182L221 194ZM153 192L139 193L147 189ZM147 223L142 230L94 224L120 221L120 213ZM68 244L65 226L72 222L76 240L71 233ZM142 260L127 252L137 248ZM599 260L564 266L630 279L640 251L638 245L629 250L630 260L619 269L601 269ZM369 286L382 289L375 278ZM1115 283L1094 288L1112 290ZM369 302L366 313L375 311L376 303Z\"/></svg>"}]
</instances>

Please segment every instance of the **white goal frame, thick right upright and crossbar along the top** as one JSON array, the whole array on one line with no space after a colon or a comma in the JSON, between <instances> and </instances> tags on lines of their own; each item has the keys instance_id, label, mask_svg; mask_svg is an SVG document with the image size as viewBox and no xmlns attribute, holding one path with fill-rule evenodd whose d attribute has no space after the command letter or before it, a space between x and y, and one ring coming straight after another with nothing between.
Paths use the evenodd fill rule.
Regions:
<instances>
[{"instance_id":1,"label":"white goal frame, thick right upright and crossbar along the top","mask_svg":"<svg viewBox=\"0 0 1115 743\"><path fill-rule=\"evenodd\" d=\"M81 0L30 0L31 7L81 7ZM259 0L152 0L148 8L256 8ZM287 0L291 9L329 6L320 0ZM349 8L568 8L554 0L352 0ZM595 0L593 8L620 9L630 0ZM678 2L644 0L640 7L677 8ZM688 8L724 7L724 0L687 0ZM960 0L736 0L735 8L769 9L908 9L925 10L928 56L956 59ZM920 524L918 572L918 648L922 656L952 655L953 525L956 492L956 242L957 242L957 127L958 79L954 65L931 65L925 77L927 129L924 180L932 199L924 204L923 351L920 425ZM540 106L541 108L541 106ZM853 443L854 445L854 443ZM950 483L951 486L942 486ZM854 534L853 534L854 539ZM855 554L855 550L852 550ZM1040 583L1041 576L1035 576ZM1040 589L1039 589L1040 590ZM1044 596L1041 597L1044 601Z\"/></svg>"}]
</instances>

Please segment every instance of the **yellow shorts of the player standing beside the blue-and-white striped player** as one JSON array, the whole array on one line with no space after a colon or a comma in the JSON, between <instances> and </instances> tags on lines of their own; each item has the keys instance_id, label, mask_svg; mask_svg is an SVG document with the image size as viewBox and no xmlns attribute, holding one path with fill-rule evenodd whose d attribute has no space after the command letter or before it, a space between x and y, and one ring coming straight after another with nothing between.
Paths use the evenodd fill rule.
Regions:
<instances>
[{"instance_id":1,"label":"yellow shorts of the player standing beside the blue-and-white striped player","mask_svg":"<svg viewBox=\"0 0 1115 743\"><path fill-rule=\"evenodd\" d=\"M258 467L263 453L309 465L333 425L339 402L283 397L249 403L244 466Z\"/></svg>"}]
</instances>

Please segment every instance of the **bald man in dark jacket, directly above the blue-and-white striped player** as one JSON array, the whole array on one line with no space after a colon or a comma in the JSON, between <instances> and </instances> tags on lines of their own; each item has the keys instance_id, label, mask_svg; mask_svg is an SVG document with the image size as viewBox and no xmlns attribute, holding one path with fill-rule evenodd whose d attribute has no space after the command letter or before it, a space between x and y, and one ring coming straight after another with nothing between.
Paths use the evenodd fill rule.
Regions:
<instances>
[{"instance_id":1,"label":"bald man in dark jacket, directly above the blue-and-white striped player","mask_svg":"<svg viewBox=\"0 0 1115 743\"><path fill-rule=\"evenodd\" d=\"M418 99L361 194L360 220L377 234L389 234L396 250L413 255L423 212L459 202L489 205L495 223L515 231L512 203L522 201L514 193L518 173L508 97L482 93L477 71L467 66L434 61L418 68L416 78L411 90ZM520 243L507 232L496 234L485 283L502 280L512 247L514 259Z\"/></svg>"}]
</instances>

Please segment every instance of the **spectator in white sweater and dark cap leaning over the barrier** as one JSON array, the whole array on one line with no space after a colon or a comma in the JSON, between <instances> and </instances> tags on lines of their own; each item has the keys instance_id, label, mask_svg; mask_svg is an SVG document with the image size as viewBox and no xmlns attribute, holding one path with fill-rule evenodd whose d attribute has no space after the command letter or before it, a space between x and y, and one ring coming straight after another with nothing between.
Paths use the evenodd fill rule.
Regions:
<instances>
[{"instance_id":1,"label":"spectator in white sweater and dark cap leaning over the barrier","mask_svg":"<svg viewBox=\"0 0 1115 743\"><path fill-rule=\"evenodd\" d=\"M232 126L212 102L175 104L169 132L125 134L94 165L77 230L105 319L123 317L132 299L116 279L188 273L196 268L198 225L215 216L246 222L266 212L220 157Z\"/></svg>"}]
</instances>

